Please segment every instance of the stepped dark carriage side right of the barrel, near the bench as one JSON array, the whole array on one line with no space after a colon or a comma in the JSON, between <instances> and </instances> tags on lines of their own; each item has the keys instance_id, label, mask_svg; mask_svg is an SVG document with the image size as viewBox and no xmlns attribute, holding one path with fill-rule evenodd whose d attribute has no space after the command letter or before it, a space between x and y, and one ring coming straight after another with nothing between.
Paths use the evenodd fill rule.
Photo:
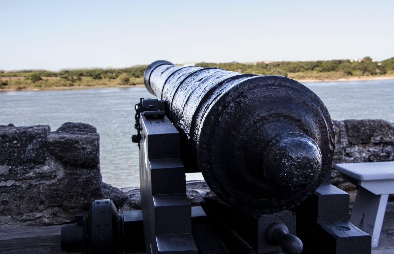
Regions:
<instances>
[{"instance_id":1,"label":"stepped dark carriage side right of the barrel, near the bench","mask_svg":"<svg viewBox=\"0 0 394 254\"><path fill-rule=\"evenodd\" d=\"M349 194L324 182L299 206L296 213L297 236L305 254L370 254L371 237L349 222Z\"/></svg>"}]
</instances>

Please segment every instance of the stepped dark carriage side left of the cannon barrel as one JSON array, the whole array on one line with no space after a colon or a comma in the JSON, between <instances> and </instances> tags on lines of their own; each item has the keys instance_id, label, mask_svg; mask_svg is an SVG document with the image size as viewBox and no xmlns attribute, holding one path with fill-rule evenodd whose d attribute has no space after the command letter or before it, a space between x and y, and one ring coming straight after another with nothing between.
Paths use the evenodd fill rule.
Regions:
<instances>
[{"instance_id":1,"label":"stepped dark carriage side left of the cannon barrel","mask_svg":"<svg viewBox=\"0 0 394 254\"><path fill-rule=\"evenodd\" d=\"M142 101L145 107L151 103L152 100ZM146 248L152 253L197 254L191 235L191 206L186 198L179 132L166 116L147 119L147 112L152 111L140 113L139 142Z\"/></svg>"}]
</instances>

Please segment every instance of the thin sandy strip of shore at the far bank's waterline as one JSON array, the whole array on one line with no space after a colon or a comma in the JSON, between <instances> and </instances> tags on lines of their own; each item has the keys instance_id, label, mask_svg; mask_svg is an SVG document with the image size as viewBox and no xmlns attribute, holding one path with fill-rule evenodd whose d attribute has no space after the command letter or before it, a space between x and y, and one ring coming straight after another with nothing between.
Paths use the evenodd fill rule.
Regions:
<instances>
[{"instance_id":1,"label":"thin sandy strip of shore at the far bank's waterline","mask_svg":"<svg viewBox=\"0 0 394 254\"><path fill-rule=\"evenodd\" d=\"M16 79L18 77L13 77L11 79ZM6 78L3 78L6 80ZM7 78L8 79L8 78ZM52 78L56 79L56 78ZM346 81L362 81L362 80L394 80L394 75L384 75L384 76L355 76L349 78L339 78L339 79L299 79L297 80L300 83L303 82L346 82ZM0 89L0 92L8 92L8 91L58 91L58 90L78 90L78 89L100 89L100 88L110 88L110 87L118 87L118 88L130 88L130 87L143 87L144 84L137 85L91 85L91 86L59 86L59 87L26 87L23 89Z\"/></svg>"}]
</instances>

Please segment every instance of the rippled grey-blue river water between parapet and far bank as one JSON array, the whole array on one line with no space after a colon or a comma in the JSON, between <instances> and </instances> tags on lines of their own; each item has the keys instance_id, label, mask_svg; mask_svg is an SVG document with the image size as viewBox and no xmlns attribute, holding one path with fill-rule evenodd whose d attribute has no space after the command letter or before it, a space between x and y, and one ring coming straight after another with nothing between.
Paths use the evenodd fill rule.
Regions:
<instances>
[{"instance_id":1,"label":"rippled grey-blue river water between parapet and far bank","mask_svg":"<svg viewBox=\"0 0 394 254\"><path fill-rule=\"evenodd\" d=\"M384 119L394 122L394 80L305 82L324 102L331 117ZM138 146L131 142L134 104L152 98L145 87L0 93L0 124L48 124L56 130L64 122L85 122L100 134L102 180L116 187L139 185ZM202 179L201 174L186 178Z\"/></svg>"}]
</instances>

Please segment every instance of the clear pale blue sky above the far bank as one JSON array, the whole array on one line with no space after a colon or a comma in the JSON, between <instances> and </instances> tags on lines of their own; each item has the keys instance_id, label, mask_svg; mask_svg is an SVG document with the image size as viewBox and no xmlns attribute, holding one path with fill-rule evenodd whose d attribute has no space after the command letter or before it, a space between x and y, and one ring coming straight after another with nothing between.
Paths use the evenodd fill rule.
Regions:
<instances>
[{"instance_id":1,"label":"clear pale blue sky above the far bank","mask_svg":"<svg viewBox=\"0 0 394 254\"><path fill-rule=\"evenodd\" d=\"M0 69L394 57L393 0L0 0Z\"/></svg>"}]
</instances>

